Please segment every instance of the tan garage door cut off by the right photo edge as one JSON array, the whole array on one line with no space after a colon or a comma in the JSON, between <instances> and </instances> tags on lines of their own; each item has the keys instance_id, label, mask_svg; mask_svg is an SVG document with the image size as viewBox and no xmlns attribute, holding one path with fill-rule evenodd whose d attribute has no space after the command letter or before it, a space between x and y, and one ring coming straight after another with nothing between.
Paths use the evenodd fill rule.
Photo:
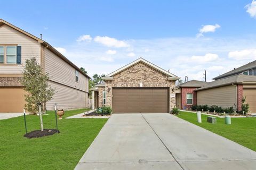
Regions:
<instances>
[{"instance_id":1,"label":"tan garage door cut off by the right photo edge","mask_svg":"<svg viewBox=\"0 0 256 170\"><path fill-rule=\"evenodd\" d=\"M256 88L243 89L243 97L246 97L245 103L249 104L249 111L256 113Z\"/></svg>"}]
</instances>

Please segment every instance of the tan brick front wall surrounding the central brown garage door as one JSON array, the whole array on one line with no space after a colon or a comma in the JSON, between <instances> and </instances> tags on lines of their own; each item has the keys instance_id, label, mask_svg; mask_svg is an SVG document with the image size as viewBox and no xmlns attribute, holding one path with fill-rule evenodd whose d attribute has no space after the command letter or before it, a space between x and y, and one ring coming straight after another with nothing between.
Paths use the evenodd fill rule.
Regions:
<instances>
[{"instance_id":1,"label":"tan brick front wall surrounding the central brown garage door","mask_svg":"<svg viewBox=\"0 0 256 170\"><path fill-rule=\"evenodd\" d=\"M175 107L175 81L168 80L168 75L159 72L145 63L137 63L126 70L114 75L114 80L106 81L106 105L112 107L113 87L169 87L170 111ZM99 107L102 106L102 90L99 88Z\"/></svg>"}]
</instances>

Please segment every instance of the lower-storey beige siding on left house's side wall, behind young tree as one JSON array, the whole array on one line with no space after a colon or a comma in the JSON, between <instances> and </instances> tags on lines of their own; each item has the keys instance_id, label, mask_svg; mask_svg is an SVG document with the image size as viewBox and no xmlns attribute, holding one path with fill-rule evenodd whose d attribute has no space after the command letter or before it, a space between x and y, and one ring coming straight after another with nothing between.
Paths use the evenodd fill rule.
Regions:
<instances>
[{"instance_id":1,"label":"lower-storey beige siding on left house's side wall, behind young tree","mask_svg":"<svg viewBox=\"0 0 256 170\"><path fill-rule=\"evenodd\" d=\"M53 110L54 104L58 104L59 109L73 109L87 107L88 94L81 90L76 90L61 84L49 81L52 88L55 88L56 94L53 99L46 103L47 110Z\"/></svg>"}]
</instances>

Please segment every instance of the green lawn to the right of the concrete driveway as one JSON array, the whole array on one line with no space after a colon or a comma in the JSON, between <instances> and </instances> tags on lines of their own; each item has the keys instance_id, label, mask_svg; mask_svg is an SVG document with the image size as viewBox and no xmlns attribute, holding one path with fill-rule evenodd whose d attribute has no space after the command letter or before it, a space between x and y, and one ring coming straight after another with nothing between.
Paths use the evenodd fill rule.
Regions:
<instances>
[{"instance_id":1,"label":"green lawn to the right of the concrete driveway","mask_svg":"<svg viewBox=\"0 0 256 170\"><path fill-rule=\"evenodd\" d=\"M217 117L217 124L208 123L207 115L203 114L202 123L197 123L195 113L180 111L177 116L256 151L256 117L231 118L231 125L227 125L225 118L219 117Z\"/></svg>"}]
</instances>

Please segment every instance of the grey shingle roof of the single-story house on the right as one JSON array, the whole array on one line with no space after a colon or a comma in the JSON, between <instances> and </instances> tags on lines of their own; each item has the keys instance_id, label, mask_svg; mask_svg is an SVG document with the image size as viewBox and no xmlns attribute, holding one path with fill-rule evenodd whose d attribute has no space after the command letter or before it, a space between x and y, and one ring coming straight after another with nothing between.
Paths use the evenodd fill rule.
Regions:
<instances>
[{"instance_id":1,"label":"grey shingle roof of the single-story house on the right","mask_svg":"<svg viewBox=\"0 0 256 170\"><path fill-rule=\"evenodd\" d=\"M246 84L246 83L256 84L256 76L243 75L243 74L233 75L225 79L219 79L219 80L209 82L204 87L198 88L195 91L217 88L217 87L227 86L231 84Z\"/></svg>"}]
</instances>

